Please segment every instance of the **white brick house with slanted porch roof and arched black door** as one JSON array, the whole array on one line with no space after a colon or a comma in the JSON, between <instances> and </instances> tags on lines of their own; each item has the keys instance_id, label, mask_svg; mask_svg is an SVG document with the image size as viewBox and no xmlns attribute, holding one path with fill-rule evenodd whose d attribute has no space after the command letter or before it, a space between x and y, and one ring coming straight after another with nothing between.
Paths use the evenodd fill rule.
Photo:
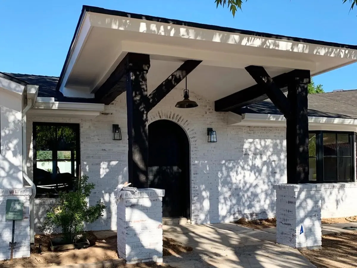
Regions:
<instances>
[{"instance_id":1,"label":"white brick house with slanted porch roof and arched black door","mask_svg":"<svg viewBox=\"0 0 357 268\"><path fill-rule=\"evenodd\" d=\"M32 185L34 208L32 211L30 207L33 217L30 223L35 231L51 202L46 198L46 191L55 198L59 187L70 189L69 177L84 174L96 184L90 202L101 199L107 206L104 216L87 228L116 230L114 189L125 181L135 186L135 173L143 163L145 171L141 170L137 177L144 176L145 183L154 183L171 193L163 199L164 213L169 216L201 224L275 216L273 185L289 181L287 141L290 136L286 134L287 124L280 109L263 101L267 95L256 92L264 87L256 85L244 68L264 66L278 88L286 92L290 84L279 79L290 77L295 70L307 70L305 79L310 79L310 75L339 68L357 58L355 46L150 16L143 19L137 14L87 6L78 25L60 77L26 74L0 77L0 188ZM171 88L167 90L167 84L166 88L164 85L161 91L157 90L160 100L156 105L143 108L145 113L140 119L145 122L140 127L144 129L141 134L147 134L149 129L147 156L144 152L147 147L135 143L136 124L139 124L135 116L141 108L130 106L135 102L134 89L138 86L135 75L141 74L135 73L137 66L131 70L133 75L121 73L138 62L131 61L128 55L150 55L147 81L147 70L141 70L145 73L141 79L147 84L147 92L139 93L141 98L150 97L159 88L157 85L184 61L202 61L197 68L183 70L175 78L178 81L167 80L173 83ZM185 84L180 81L186 76L190 99L198 104L192 109L175 107L182 100ZM307 84L305 81L299 86ZM129 94L130 100L124 92L127 90L134 94ZM252 94L251 98L240 102L234 97L239 92ZM311 95L308 99L309 146L317 149L315 153L310 152L310 175L305 182L323 183L322 217L357 214L356 206L351 206L357 199L354 183L357 110L352 104L356 96L357 91L342 91ZM9 99L14 99L15 108L9 107ZM228 103L231 108L222 108L222 103ZM163 120L174 122L184 135L178 137L180 131L175 129L170 132L170 139L165 140L160 131L166 133L172 125ZM161 129L152 124L157 121L161 121ZM162 127L165 124L167 128ZM113 125L119 125L121 140L113 139ZM150 136L154 126L156 134ZM207 142L207 128L216 131L217 142ZM71 134L64 134L66 131ZM54 133L53 140L51 133ZM157 144L160 140L162 146ZM182 148L185 141L188 141L187 152ZM150 147L152 143L156 147ZM166 150L168 145L172 145L172 150ZM140 150L144 152L142 155L138 153ZM142 159L138 160L138 155ZM166 160L171 162L165 164ZM171 169L167 171L167 168ZM7 197L0 198L4 201ZM4 205L0 211L4 213ZM5 228L4 220L1 224L0 228Z\"/></svg>"}]
</instances>

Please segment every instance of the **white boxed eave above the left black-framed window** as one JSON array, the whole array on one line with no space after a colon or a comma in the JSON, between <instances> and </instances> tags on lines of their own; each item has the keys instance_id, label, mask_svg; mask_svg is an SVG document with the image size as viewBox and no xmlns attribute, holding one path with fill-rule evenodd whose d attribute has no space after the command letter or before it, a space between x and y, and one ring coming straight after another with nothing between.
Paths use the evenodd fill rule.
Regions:
<instances>
[{"instance_id":1,"label":"white boxed eave above the left black-framed window","mask_svg":"<svg viewBox=\"0 0 357 268\"><path fill-rule=\"evenodd\" d=\"M37 98L34 108L29 110L32 116L95 118L104 111L104 104L73 103L55 101L54 98Z\"/></svg>"}]
</instances>

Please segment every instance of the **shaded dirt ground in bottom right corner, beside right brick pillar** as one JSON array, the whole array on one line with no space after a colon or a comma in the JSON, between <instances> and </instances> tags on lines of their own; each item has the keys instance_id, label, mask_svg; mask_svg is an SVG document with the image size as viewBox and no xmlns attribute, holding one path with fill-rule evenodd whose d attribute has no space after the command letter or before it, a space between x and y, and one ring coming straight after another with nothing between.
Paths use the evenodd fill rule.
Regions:
<instances>
[{"instance_id":1,"label":"shaded dirt ground in bottom right corner, beside right brick pillar","mask_svg":"<svg viewBox=\"0 0 357 268\"><path fill-rule=\"evenodd\" d=\"M322 249L300 250L318 268L357 267L357 232L322 236Z\"/></svg>"}]
</instances>

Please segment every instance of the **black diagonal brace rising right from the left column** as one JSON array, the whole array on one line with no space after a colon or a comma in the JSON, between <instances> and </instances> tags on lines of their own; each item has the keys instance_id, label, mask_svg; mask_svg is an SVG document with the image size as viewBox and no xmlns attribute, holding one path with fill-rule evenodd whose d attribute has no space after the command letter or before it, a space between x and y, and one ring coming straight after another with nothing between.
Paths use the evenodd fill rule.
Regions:
<instances>
[{"instance_id":1,"label":"black diagonal brace rising right from the left column","mask_svg":"<svg viewBox=\"0 0 357 268\"><path fill-rule=\"evenodd\" d=\"M149 111L154 108L172 89L175 88L188 74L191 73L202 61L186 60L177 68L168 78L166 78L154 91L149 95Z\"/></svg>"}]
</instances>

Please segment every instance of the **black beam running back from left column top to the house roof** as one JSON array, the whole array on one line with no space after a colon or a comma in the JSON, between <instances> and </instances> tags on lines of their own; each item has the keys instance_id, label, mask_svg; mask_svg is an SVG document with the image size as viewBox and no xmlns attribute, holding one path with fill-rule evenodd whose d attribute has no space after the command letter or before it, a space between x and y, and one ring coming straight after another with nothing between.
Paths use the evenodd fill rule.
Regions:
<instances>
[{"instance_id":1,"label":"black beam running back from left column top to the house roof","mask_svg":"<svg viewBox=\"0 0 357 268\"><path fill-rule=\"evenodd\" d=\"M126 54L124 59L120 61L115 70L94 94L97 102L109 105L117 96L126 91L126 70L128 66L134 64L136 59L139 59L141 55L144 54Z\"/></svg>"}]
</instances>

